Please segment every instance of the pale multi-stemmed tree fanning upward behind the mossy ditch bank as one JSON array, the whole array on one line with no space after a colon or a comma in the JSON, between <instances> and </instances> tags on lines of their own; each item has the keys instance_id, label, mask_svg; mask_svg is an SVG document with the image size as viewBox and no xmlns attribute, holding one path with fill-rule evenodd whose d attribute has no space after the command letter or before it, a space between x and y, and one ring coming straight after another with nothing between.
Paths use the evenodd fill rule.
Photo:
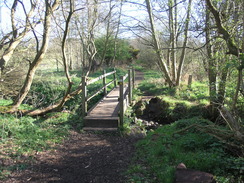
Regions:
<instances>
[{"instance_id":1,"label":"pale multi-stemmed tree fanning upward behind the mossy ditch bank","mask_svg":"<svg viewBox=\"0 0 244 183\"><path fill-rule=\"evenodd\" d=\"M184 41L182 46L182 52L179 61L177 62L176 57L176 47L177 47L177 37L179 36L179 32L177 31L177 1L176 0L169 0L168 7L169 7L169 32L170 32L170 45L168 50L168 57L165 59L164 53L162 51L162 46L160 44L160 39L158 37L158 33L155 26L153 9L151 7L150 0L146 0L147 12L150 19L151 25L151 33L153 38L153 46L157 53L159 63L162 72L166 77L166 82L169 86L179 86L180 78L182 75L182 70L185 61L185 54L186 54L186 46L188 41L188 27L190 22L190 14L191 14L191 3L192 1L188 1L187 11L186 11L186 19L184 25ZM178 67L177 67L178 65ZM170 70L171 69L171 70Z\"/></svg>"}]
</instances>

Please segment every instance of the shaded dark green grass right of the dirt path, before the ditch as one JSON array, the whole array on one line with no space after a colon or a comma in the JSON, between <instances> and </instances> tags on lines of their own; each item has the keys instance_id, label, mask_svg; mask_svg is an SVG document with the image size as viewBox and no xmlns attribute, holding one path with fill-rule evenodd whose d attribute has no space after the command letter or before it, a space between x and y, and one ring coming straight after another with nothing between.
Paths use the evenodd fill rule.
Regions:
<instances>
[{"instance_id":1,"label":"shaded dark green grass right of the dirt path, before the ditch","mask_svg":"<svg viewBox=\"0 0 244 183\"><path fill-rule=\"evenodd\" d=\"M223 181L220 182L233 179L234 172L236 178L240 179L243 158L227 154L225 146L206 133L194 128L184 130L192 124L209 123L211 122L201 118L184 119L149 133L137 144L136 163L133 163L129 170L131 182L138 180L136 175L141 175L141 180L146 179L145 182L172 183L175 167L181 162L186 164L187 168L221 177L219 179Z\"/></svg>"}]
</instances>

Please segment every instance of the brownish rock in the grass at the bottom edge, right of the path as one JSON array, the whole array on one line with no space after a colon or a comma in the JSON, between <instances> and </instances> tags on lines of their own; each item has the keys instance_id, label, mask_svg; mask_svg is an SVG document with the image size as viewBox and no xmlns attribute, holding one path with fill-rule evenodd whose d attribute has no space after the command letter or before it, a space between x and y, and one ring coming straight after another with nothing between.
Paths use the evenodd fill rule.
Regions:
<instances>
[{"instance_id":1,"label":"brownish rock in the grass at the bottom edge, right of the path","mask_svg":"<svg viewBox=\"0 0 244 183\"><path fill-rule=\"evenodd\" d=\"M187 169L183 163L176 168L175 183L216 183L210 173Z\"/></svg>"}]
</instances>

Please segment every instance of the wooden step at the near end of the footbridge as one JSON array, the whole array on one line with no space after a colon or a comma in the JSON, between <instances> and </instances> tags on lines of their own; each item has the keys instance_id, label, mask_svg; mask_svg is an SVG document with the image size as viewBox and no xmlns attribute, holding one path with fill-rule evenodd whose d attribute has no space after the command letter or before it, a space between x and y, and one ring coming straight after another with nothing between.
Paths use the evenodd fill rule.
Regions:
<instances>
[{"instance_id":1,"label":"wooden step at the near end of the footbridge","mask_svg":"<svg viewBox=\"0 0 244 183\"><path fill-rule=\"evenodd\" d=\"M84 127L92 128L118 128L119 127L119 118L118 117L94 117L86 116L84 118Z\"/></svg>"}]
</instances>

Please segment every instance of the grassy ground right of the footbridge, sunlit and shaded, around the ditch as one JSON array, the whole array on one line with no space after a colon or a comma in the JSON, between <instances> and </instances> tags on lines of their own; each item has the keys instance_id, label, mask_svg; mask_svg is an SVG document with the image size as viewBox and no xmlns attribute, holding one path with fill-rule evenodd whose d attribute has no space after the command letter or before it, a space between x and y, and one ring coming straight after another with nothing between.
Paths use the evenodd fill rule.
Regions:
<instances>
[{"instance_id":1,"label":"grassy ground right of the footbridge, sunlit and shaded, around the ditch","mask_svg":"<svg viewBox=\"0 0 244 183\"><path fill-rule=\"evenodd\" d=\"M177 89L168 88L159 72L144 72L145 81L135 98L145 94L160 98L168 106L162 115L170 116L171 124L149 131L137 143L137 153L127 172L130 182L172 183L176 166L184 163L187 168L213 174L219 183L243 183L244 158L207 132L229 130L207 119L207 83L195 81L191 87L182 84Z\"/></svg>"}]
</instances>

